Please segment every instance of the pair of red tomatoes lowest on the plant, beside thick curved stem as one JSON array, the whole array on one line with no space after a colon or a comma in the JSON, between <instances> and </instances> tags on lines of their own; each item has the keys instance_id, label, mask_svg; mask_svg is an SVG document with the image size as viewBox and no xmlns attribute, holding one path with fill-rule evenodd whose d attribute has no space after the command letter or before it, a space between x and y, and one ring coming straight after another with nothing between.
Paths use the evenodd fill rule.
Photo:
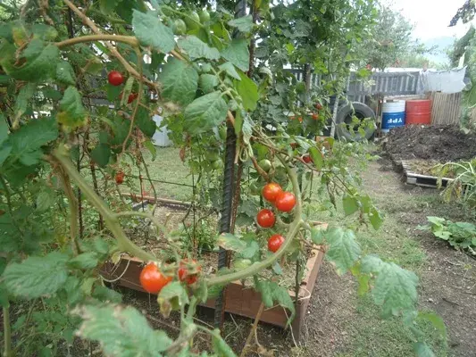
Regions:
<instances>
[{"instance_id":1,"label":"pair of red tomatoes lowest on the plant, beside thick curved stem","mask_svg":"<svg viewBox=\"0 0 476 357\"><path fill-rule=\"evenodd\" d=\"M195 260L184 259L179 264L177 275L187 285L196 283L202 267ZM165 275L155 262L149 262L140 272L140 285L150 294L159 294L163 286L169 284L173 277Z\"/></svg>"}]
</instances>

